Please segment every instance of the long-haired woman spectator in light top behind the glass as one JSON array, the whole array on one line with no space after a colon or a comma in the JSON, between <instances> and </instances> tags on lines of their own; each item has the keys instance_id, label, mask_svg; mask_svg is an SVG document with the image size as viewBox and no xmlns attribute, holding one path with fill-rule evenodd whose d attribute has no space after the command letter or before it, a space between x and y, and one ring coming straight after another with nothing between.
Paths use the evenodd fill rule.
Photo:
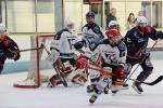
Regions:
<instances>
[{"instance_id":1,"label":"long-haired woman spectator in light top behind the glass","mask_svg":"<svg viewBox=\"0 0 163 108\"><path fill-rule=\"evenodd\" d=\"M136 21L136 18L135 18L134 13L129 13L129 16L127 18L127 28L128 29L131 29L136 26L135 21Z\"/></svg>"}]
</instances>

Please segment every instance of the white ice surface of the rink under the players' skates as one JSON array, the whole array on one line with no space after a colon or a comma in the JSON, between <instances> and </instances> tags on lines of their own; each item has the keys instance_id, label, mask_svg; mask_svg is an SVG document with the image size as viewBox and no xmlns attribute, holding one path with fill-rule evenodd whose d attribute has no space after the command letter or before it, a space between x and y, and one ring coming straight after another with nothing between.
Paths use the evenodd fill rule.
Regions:
<instances>
[{"instance_id":1,"label":"white ice surface of the rink under the players' skates","mask_svg":"<svg viewBox=\"0 0 163 108\"><path fill-rule=\"evenodd\" d=\"M152 60L153 73L147 82L163 75L163 59ZM139 70L133 76L139 73ZM0 108L163 108L163 82L156 85L142 85L145 92L139 95L131 87L116 95L100 95L93 105L89 105L89 95L85 86L58 86L49 89L15 89L13 83L24 80L26 72L0 76ZM131 81L129 81L131 84Z\"/></svg>"}]
</instances>

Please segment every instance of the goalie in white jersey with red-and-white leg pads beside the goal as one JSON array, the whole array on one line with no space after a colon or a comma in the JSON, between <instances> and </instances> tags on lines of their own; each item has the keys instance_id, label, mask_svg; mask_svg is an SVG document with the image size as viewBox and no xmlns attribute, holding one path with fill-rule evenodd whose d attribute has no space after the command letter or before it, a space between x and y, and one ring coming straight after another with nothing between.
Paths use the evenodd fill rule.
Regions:
<instances>
[{"instance_id":1,"label":"goalie in white jersey with red-and-white leg pads beside the goal","mask_svg":"<svg viewBox=\"0 0 163 108\"><path fill-rule=\"evenodd\" d=\"M74 44L78 41L77 35L73 31L74 23L67 19L65 28L60 30L52 42L51 55L55 71L63 75L65 81L85 84L87 82L87 59L85 56L76 58ZM55 86L61 84L62 80L59 75L54 75L49 80L49 85Z\"/></svg>"}]
</instances>

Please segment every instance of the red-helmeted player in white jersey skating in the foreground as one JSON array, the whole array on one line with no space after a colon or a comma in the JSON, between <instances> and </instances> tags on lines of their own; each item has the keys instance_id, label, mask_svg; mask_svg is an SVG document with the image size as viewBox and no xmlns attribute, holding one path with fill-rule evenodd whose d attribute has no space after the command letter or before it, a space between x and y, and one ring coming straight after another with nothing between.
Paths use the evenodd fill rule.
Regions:
<instances>
[{"instance_id":1,"label":"red-helmeted player in white jersey skating in the foreground","mask_svg":"<svg viewBox=\"0 0 163 108\"><path fill-rule=\"evenodd\" d=\"M92 104L98 98L98 96L103 93L104 87L109 84L112 87L112 77L116 79L114 85L116 90L123 86L123 81L125 78L124 65L126 62L126 45L122 41L122 36L118 30L111 29L106 32L108 39L103 40L101 44L97 46L91 56L91 62L97 63L99 58L102 60L101 69L99 72L99 80L95 84L93 95L90 97L89 102ZM89 71L98 71L90 67ZM115 89L115 86L114 86Z\"/></svg>"}]
</instances>

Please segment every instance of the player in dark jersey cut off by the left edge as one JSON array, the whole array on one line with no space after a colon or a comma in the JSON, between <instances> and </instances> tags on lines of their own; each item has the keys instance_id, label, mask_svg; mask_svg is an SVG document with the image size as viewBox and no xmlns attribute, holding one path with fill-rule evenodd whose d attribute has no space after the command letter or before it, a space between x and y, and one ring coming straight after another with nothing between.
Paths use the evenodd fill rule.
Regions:
<instances>
[{"instance_id":1,"label":"player in dark jersey cut off by the left edge","mask_svg":"<svg viewBox=\"0 0 163 108\"><path fill-rule=\"evenodd\" d=\"M8 37L7 28L3 24L0 24L0 73L3 70L7 58L14 60L20 59L18 51L17 44Z\"/></svg>"}]
</instances>

